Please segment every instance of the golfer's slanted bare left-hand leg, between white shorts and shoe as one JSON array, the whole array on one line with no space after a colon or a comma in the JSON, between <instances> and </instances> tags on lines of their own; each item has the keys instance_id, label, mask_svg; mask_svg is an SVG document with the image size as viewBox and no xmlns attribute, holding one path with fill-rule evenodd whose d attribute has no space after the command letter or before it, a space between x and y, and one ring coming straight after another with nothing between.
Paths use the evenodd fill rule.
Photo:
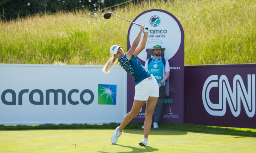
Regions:
<instances>
[{"instance_id":1,"label":"golfer's slanted bare left-hand leg, between white shorts and shoe","mask_svg":"<svg viewBox=\"0 0 256 153\"><path fill-rule=\"evenodd\" d=\"M122 132L124 127L139 113L140 109L142 108L145 102L146 101L133 101L133 107L131 111L124 116L122 123L118 129L120 132Z\"/></svg>"}]
</instances>

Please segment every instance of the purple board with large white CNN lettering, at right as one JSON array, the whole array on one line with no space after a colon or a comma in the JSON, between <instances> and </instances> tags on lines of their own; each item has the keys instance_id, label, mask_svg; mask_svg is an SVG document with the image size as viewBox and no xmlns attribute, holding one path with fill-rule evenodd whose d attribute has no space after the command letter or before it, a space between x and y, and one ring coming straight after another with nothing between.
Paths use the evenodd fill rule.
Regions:
<instances>
[{"instance_id":1,"label":"purple board with large white CNN lettering, at right","mask_svg":"<svg viewBox=\"0 0 256 153\"><path fill-rule=\"evenodd\" d=\"M211 126L227 126L227 127L238 127L238 128L256 128L256 115L255 115L255 73L256 64L230 64L230 65L209 65L209 66L185 66L185 107L186 107L186 123L201 124L201 125L211 125ZM212 76L217 75L217 80L211 80L207 83L207 79ZM220 87L220 77L226 77L227 81L220 81L223 84ZM240 77L239 77L240 76ZM250 80L248 79L250 78ZM241 80L237 80L241 78ZM235 80L235 85L233 81ZM248 84L248 81L250 84ZM210 87L210 83L215 83L214 87ZM212 84L213 85L213 84ZM240 86L245 87L239 92ZM230 89L227 89L230 86ZM234 87L236 86L236 87ZM248 86L251 86L248 89ZM203 90L206 87L206 90ZM209 90L209 92L204 92ZM220 91L225 91L220 92ZM241 92L242 91L242 92ZM250 92L251 91L251 92ZM235 93L236 94L233 94ZM239 93L244 99L244 102L240 100ZM247 98L245 95L249 94ZM228 95L228 97L233 97L234 101L228 102L226 98L220 98L220 96ZM209 97L206 100L206 104L203 104L203 97ZM221 108L213 108L212 104L220 104ZM226 110L225 108L226 104ZM236 107L236 104L241 104L240 107ZM207 108L208 109L207 111ZM217 113L217 111L223 111L223 115L211 115L212 113ZM231 110L234 110L233 113ZM235 114L235 112L240 113ZM246 112L247 110L247 112ZM217 113L219 114L219 113ZM251 117L249 117L251 114ZM237 116L237 117L235 117Z\"/></svg>"}]
</instances>

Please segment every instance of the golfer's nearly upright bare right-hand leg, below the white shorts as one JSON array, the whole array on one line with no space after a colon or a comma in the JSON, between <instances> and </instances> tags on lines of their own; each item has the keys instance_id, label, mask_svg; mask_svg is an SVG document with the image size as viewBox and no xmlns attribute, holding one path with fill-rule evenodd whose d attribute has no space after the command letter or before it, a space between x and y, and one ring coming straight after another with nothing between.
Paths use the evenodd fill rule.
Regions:
<instances>
[{"instance_id":1,"label":"golfer's nearly upright bare right-hand leg, below the white shorts","mask_svg":"<svg viewBox=\"0 0 256 153\"><path fill-rule=\"evenodd\" d=\"M144 121L144 137L147 139L150 132L150 128L152 124L152 115L153 115L157 100L158 100L158 97L149 97L149 100L146 104L145 121Z\"/></svg>"}]
</instances>

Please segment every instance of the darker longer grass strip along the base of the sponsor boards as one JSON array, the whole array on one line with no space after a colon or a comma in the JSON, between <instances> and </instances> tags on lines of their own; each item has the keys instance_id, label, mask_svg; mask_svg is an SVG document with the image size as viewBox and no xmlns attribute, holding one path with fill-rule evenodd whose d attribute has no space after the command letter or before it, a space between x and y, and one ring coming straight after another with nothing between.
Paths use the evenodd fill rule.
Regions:
<instances>
[{"instance_id":1,"label":"darker longer grass strip along the base of the sponsor boards","mask_svg":"<svg viewBox=\"0 0 256 153\"><path fill-rule=\"evenodd\" d=\"M140 129L143 123L129 123L126 129ZM109 124L42 124L42 125L0 125L0 130L39 130L39 129L115 129L119 123ZM160 123L163 130L183 130L212 134L256 137L256 129L204 126L195 124Z\"/></svg>"}]
</instances>

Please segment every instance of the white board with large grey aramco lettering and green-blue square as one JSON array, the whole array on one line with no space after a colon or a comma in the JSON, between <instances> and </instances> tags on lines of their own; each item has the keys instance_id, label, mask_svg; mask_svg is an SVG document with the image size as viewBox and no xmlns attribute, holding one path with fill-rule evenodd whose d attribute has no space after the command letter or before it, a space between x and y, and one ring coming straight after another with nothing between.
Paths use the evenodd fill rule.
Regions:
<instances>
[{"instance_id":1,"label":"white board with large grey aramco lettering and green-blue square","mask_svg":"<svg viewBox=\"0 0 256 153\"><path fill-rule=\"evenodd\" d=\"M109 74L102 68L0 64L0 124L121 122L127 73L121 66Z\"/></svg>"}]
</instances>

